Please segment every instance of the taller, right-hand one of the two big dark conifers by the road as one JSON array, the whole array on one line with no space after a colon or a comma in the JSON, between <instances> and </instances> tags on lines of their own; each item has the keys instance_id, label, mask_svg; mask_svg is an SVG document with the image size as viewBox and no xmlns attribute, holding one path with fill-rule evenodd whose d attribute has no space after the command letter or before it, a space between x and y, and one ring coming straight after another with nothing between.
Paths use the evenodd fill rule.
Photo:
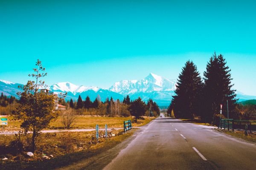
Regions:
<instances>
[{"instance_id":1,"label":"taller, right-hand one of the two big dark conifers by the road","mask_svg":"<svg viewBox=\"0 0 256 170\"><path fill-rule=\"evenodd\" d=\"M214 53L207 63L204 72L204 114L201 115L207 122L215 119L215 114L220 112L220 105L223 105L223 114L227 117L227 101L230 110L236 107L236 90L232 90L230 68L227 66L223 55Z\"/></svg>"}]
</instances>

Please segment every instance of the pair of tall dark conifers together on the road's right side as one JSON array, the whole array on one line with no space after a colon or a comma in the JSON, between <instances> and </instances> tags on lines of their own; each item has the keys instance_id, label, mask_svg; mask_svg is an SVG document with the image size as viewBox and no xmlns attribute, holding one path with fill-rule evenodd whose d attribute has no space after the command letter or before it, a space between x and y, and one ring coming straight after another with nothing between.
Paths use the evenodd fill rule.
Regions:
<instances>
[{"instance_id":1,"label":"pair of tall dark conifers together on the road's right side","mask_svg":"<svg viewBox=\"0 0 256 170\"><path fill-rule=\"evenodd\" d=\"M175 96L168 107L168 114L174 112L177 118L194 119L196 116L209 123L217 123L220 105L222 114L229 119L236 118L236 90L232 87L230 68L223 55L215 53L207 62L203 79L194 62L187 61L177 79Z\"/></svg>"}]
</instances>

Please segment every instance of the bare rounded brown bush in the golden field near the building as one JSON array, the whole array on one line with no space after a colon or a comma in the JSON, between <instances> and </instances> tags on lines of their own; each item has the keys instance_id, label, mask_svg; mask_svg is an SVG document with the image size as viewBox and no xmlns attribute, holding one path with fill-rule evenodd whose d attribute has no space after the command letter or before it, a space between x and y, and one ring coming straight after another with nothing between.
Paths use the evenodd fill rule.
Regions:
<instances>
[{"instance_id":1,"label":"bare rounded brown bush in the golden field near the building","mask_svg":"<svg viewBox=\"0 0 256 170\"><path fill-rule=\"evenodd\" d=\"M62 111L61 117L61 122L64 125L65 129L70 129L74 125L77 115L76 112L72 108L70 108L66 111Z\"/></svg>"}]
</instances>

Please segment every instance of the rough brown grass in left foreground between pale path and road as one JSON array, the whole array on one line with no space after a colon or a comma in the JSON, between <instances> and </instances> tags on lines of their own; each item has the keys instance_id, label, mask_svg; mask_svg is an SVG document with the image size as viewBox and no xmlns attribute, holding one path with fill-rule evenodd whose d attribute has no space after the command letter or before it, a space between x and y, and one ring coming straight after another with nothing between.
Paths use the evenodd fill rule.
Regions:
<instances>
[{"instance_id":1,"label":"rough brown grass in left foreground between pale path and road","mask_svg":"<svg viewBox=\"0 0 256 170\"><path fill-rule=\"evenodd\" d=\"M99 143L94 132L60 132L43 133L37 139L37 150L33 157L26 156L29 151L27 137L22 136L23 147L17 153L17 141L14 135L3 136L0 140L0 170L16 169L55 169L67 166L73 162L88 159L102 153L124 141L134 133L135 129L122 133L122 130L112 130L108 132L108 139L104 132L99 132ZM15 160L15 161L14 161Z\"/></svg>"}]
</instances>

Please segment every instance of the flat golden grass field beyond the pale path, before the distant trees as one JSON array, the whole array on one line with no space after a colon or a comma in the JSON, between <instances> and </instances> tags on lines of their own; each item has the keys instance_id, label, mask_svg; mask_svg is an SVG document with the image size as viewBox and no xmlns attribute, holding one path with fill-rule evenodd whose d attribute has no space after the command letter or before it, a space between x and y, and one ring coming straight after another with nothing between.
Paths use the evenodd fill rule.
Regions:
<instances>
[{"instance_id":1,"label":"flat golden grass field beyond the pale path, before the distant trees","mask_svg":"<svg viewBox=\"0 0 256 170\"><path fill-rule=\"evenodd\" d=\"M144 119L137 119L137 123L132 121L132 126L142 126L150 122L155 117L143 116ZM134 119L134 117L133 117ZM50 123L48 129L64 129L64 125L61 123L62 118L58 117L55 122ZM99 128L105 128L105 124L108 124L108 128L117 128L123 127L123 122L131 120L131 117L102 117L102 116L77 116L74 121L72 129L94 129L96 124L99 125ZM13 120L12 116L9 116L8 125L4 127L5 131L16 131L20 130L20 120Z\"/></svg>"}]
</instances>

